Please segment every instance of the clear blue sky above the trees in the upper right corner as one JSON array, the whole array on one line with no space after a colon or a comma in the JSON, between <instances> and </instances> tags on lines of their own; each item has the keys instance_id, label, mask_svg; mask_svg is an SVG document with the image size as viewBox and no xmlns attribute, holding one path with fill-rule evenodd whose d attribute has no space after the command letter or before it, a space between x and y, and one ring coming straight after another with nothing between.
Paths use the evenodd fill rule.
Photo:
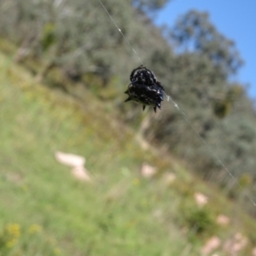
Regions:
<instances>
[{"instance_id":1,"label":"clear blue sky above the trees in the upper right corner","mask_svg":"<svg viewBox=\"0 0 256 256\"><path fill-rule=\"evenodd\" d=\"M236 79L248 85L248 96L256 100L256 0L172 0L155 17L155 24L173 26L189 9L207 11L212 24L233 40L244 66Z\"/></svg>"}]
</instances>

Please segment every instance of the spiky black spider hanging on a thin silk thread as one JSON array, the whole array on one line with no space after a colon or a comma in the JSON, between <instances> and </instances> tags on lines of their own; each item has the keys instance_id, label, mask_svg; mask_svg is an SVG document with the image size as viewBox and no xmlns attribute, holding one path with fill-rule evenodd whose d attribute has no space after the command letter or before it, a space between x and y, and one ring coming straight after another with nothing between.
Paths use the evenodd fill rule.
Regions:
<instances>
[{"instance_id":1,"label":"spiky black spider hanging on a thin silk thread","mask_svg":"<svg viewBox=\"0 0 256 256\"><path fill-rule=\"evenodd\" d=\"M161 102L164 100L164 88L157 81L154 73L143 65L132 70L130 76L131 84L128 85L128 99L125 102L135 101L143 104L143 110L146 105L161 109Z\"/></svg>"}]
</instances>

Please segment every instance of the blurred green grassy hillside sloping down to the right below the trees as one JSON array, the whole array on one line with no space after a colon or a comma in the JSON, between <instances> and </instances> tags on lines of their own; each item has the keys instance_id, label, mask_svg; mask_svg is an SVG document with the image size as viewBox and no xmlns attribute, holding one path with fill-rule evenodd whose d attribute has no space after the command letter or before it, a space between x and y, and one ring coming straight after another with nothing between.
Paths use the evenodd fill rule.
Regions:
<instances>
[{"instance_id":1,"label":"blurred green grassy hillside sloping down to the right below the trees","mask_svg":"<svg viewBox=\"0 0 256 256\"><path fill-rule=\"evenodd\" d=\"M224 243L237 233L247 241L237 255L251 254L256 223L238 203L143 149L90 91L79 104L3 54L0 70L0 255L200 255L212 236L218 255L230 255ZM75 179L58 150L83 155L92 182ZM154 177L141 175L144 162ZM230 224L217 224L219 214Z\"/></svg>"}]
</instances>

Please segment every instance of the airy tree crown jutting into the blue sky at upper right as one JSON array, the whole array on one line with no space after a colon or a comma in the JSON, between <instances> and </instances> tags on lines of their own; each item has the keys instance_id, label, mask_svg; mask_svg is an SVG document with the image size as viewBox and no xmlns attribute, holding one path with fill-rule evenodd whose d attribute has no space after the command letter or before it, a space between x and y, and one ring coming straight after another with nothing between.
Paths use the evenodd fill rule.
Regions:
<instances>
[{"instance_id":1,"label":"airy tree crown jutting into the blue sky at upper right","mask_svg":"<svg viewBox=\"0 0 256 256\"><path fill-rule=\"evenodd\" d=\"M177 20L171 37L181 49L207 55L226 76L236 73L242 65L235 43L218 32L207 13L189 11Z\"/></svg>"}]
</instances>

